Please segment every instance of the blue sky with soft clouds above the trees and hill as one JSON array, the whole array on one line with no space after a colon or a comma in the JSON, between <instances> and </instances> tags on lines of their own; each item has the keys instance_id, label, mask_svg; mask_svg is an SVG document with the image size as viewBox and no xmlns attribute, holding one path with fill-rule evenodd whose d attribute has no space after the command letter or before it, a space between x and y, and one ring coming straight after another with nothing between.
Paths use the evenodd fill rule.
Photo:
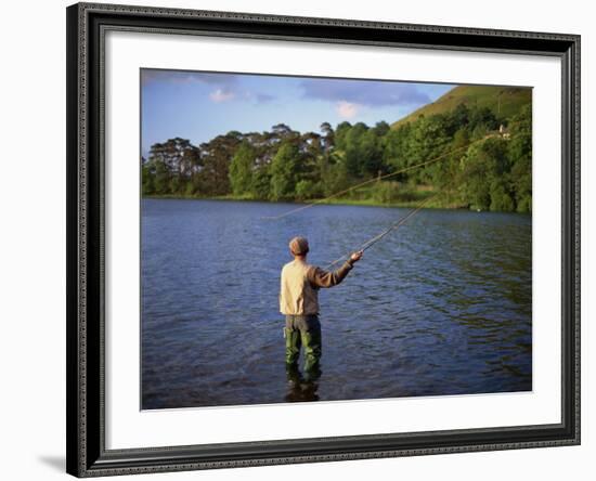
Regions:
<instances>
[{"instance_id":1,"label":"blue sky with soft clouds above the trees and hill","mask_svg":"<svg viewBox=\"0 0 596 481\"><path fill-rule=\"evenodd\" d=\"M283 122L300 132L347 120L392 123L454 86L321 77L141 70L142 154L181 136L198 145Z\"/></svg>"}]
</instances>

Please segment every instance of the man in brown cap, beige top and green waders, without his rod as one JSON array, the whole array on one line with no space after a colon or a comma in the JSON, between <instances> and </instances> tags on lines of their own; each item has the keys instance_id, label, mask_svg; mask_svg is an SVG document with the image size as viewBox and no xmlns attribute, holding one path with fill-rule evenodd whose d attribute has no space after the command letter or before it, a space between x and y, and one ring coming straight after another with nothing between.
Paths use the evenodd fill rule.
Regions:
<instances>
[{"instance_id":1,"label":"man in brown cap, beige top and green waders, without his rod","mask_svg":"<svg viewBox=\"0 0 596 481\"><path fill-rule=\"evenodd\" d=\"M297 369L300 347L305 348L305 375L320 376L321 324L319 323L319 289L337 286L362 258L353 252L337 271L327 272L307 263L309 243L305 237L289 242L294 260L282 269L280 311L286 316L286 369Z\"/></svg>"}]
</instances>

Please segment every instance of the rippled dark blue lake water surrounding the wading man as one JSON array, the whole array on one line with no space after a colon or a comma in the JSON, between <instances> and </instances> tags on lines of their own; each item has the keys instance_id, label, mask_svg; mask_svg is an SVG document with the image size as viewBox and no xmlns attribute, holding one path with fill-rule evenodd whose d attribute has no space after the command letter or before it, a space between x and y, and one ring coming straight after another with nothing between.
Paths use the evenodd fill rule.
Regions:
<instances>
[{"instance_id":1,"label":"rippled dark blue lake water surrounding the wading man","mask_svg":"<svg viewBox=\"0 0 596 481\"><path fill-rule=\"evenodd\" d=\"M142 408L532 389L531 216L423 209L321 289L322 376L288 377L280 271L325 266L411 209L142 202ZM300 360L301 363L301 360Z\"/></svg>"}]
</instances>

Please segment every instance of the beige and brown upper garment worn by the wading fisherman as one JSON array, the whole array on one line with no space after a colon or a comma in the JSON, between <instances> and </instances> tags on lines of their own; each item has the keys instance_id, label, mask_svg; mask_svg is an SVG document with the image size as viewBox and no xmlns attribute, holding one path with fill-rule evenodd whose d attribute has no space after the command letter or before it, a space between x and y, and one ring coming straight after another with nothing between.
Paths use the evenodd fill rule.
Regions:
<instances>
[{"instance_id":1,"label":"beige and brown upper garment worn by the wading fisherman","mask_svg":"<svg viewBox=\"0 0 596 481\"><path fill-rule=\"evenodd\" d=\"M338 285L352 269L348 260L335 272L295 259L282 269L280 311L282 314L319 314L319 289Z\"/></svg>"}]
</instances>

